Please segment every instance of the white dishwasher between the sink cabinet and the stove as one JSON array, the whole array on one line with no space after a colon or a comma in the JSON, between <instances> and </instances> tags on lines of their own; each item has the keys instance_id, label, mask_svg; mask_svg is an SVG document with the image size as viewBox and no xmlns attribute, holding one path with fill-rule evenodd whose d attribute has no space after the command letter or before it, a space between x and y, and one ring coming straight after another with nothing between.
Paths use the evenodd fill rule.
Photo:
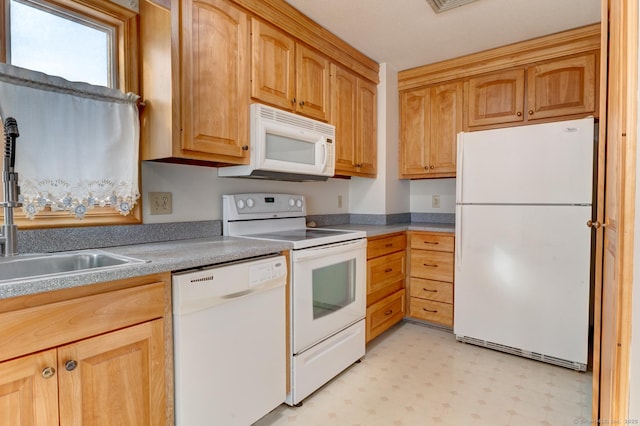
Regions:
<instances>
[{"instance_id":1,"label":"white dishwasher between the sink cabinet and the stove","mask_svg":"<svg viewBox=\"0 0 640 426\"><path fill-rule=\"evenodd\" d=\"M286 397L284 256L173 274L175 416L247 426Z\"/></svg>"}]
</instances>

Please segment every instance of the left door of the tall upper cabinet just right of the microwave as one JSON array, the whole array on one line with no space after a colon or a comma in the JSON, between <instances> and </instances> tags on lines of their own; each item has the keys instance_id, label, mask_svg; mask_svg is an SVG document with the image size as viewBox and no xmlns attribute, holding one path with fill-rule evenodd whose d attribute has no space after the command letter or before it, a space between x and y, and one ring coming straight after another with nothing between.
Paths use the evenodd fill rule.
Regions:
<instances>
[{"instance_id":1,"label":"left door of the tall upper cabinet just right of the microwave","mask_svg":"<svg viewBox=\"0 0 640 426\"><path fill-rule=\"evenodd\" d=\"M336 175L356 171L357 77L331 64L331 123L336 126Z\"/></svg>"}]
</instances>

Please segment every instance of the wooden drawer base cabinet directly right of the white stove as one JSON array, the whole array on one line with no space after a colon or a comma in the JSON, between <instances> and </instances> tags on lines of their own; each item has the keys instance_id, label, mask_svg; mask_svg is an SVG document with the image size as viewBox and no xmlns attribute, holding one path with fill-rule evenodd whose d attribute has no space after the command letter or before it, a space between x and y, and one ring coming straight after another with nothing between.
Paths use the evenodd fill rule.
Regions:
<instances>
[{"instance_id":1,"label":"wooden drawer base cabinet directly right of the white stove","mask_svg":"<svg viewBox=\"0 0 640 426\"><path fill-rule=\"evenodd\" d=\"M406 236L399 232L367 242L367 343L405 315Z\"/></svg>"}]
</instances>

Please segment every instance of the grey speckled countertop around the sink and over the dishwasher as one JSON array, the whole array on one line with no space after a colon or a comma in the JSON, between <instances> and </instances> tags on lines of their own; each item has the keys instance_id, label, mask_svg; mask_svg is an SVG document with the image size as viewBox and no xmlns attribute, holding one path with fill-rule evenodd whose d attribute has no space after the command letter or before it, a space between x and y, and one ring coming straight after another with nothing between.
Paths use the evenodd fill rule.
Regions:
<instances>
[{"instance_id":1,"label":"grey speckled countertop around the sink and over the dishwasher","mask_svg":"<svg viewBox=\"0 0 640 426\"><path fill-rule=\"evenodd\" d=\"M291 244L286 242L259 241L225 236L109 247L100 250L134 257L144 260L146 263L112 269L95 269L46 279L30 278L21 281L7 281L0 284L0 299L159 272L179 271L278 253L289 249L291 249Z\"/></svg>"}]
</instances>

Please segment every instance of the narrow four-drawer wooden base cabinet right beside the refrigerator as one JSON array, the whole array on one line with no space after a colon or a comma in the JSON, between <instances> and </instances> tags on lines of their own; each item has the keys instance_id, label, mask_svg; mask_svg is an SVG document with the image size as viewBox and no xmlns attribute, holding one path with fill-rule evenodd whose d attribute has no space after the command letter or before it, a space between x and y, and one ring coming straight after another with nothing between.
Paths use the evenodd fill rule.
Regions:
<instances>
[{"instance_id":1,"label":"narrow four-drawer wooden base cabinet right beside the refrigerator","mask_svg":"<svg viewBox=\"0 0 640 426\"><path fill-rule=\"evenodd\" d=\"M410 233L409 316L453 327L454 236Z\"/></svg>"}]
</instances>

